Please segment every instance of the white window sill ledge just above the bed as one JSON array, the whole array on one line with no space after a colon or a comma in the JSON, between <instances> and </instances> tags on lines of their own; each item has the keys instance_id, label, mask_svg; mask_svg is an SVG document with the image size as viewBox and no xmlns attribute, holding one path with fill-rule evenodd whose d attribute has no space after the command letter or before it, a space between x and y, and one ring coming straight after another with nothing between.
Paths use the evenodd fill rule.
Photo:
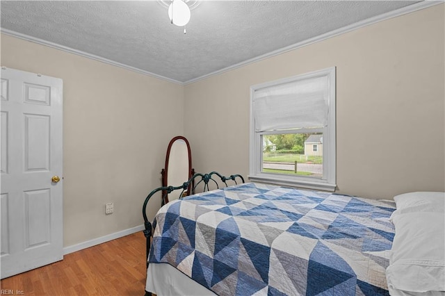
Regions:
<instances>
[{"instance_id":1,"label":"white window sill ledge just above the bed","mask_svg":"<svg viewBox=\"0 0 445 296\"><path fill-rule=\"evenodd\" d=\"M327 183L327 181L324 180L307 180L307 178L295 178L283 175L277 176L276 174L249 175L248 179L252 182L270 183L280 186L291 186L330 192L334 192L335 188L337 188L337 184Z\"/></svg>"}]
</instances>

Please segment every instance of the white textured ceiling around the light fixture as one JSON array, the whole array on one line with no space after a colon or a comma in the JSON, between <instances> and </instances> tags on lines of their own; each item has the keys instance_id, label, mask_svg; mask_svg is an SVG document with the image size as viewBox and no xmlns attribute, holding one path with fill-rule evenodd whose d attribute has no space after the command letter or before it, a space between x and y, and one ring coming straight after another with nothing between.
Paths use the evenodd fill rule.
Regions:
<instances>
[{"instance_id":1,"label":"white textured ceiling around the light fixture","mask_svg":"<svg viewBox=\"0 0 445 296\"><path fill-rule=\"evenodd\" d=\"M159 1L1 1L1 28L187 83L419 1L202 1L187 33ZM5 31L5 30L3 30Z\"/></svg>"}]
</instances>

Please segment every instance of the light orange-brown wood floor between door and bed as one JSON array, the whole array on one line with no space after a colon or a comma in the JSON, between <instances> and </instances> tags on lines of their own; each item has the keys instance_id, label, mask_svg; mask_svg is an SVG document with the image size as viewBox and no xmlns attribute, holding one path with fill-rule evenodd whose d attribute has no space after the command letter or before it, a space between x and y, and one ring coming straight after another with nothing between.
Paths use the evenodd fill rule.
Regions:
<instances>
[{"instance_id":1,"label":"light orange-brown wood floor between door and bed","mask_svg":"<svg viewBox=\"0 0 445 296\"><path fill-rule=\"evenodd\" d=\"M67 254L42 268L0 281L1 294L144 295L145 236L142 231ZM6 290L6 291L5 291Z\"/></svg>"}]
</instances>

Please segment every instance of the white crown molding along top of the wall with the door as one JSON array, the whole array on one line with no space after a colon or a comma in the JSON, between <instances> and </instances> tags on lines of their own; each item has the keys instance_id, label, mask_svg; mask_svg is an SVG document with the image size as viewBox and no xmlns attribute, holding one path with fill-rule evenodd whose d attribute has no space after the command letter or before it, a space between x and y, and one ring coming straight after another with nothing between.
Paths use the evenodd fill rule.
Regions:
<instances>
[{"instance_id":1,"label":"white crown molding along top of the wall with the door","mask_svg":"<svg viewBox=\"0 0 445 296\"><path fill-rule=\"evenodd\" d=\"M85 51L72 49L71 47L65 47L63 45L60 45L60 44L57 44L57 43L54 43L54 42L49 42L49 41L46 41L46 40L42 40L40 38L35 38L35 37L29 36L29 35L18 33L18 32L15 32L15 31L11 31L11 30L8 30L7 28L1 28L0 32L3 33L3 34L6 34L6 35L13 36L15 38L19 38L19 39L26 40L26 41L29 41L29 42L34 42L34 43L37 43L37 44L42 44L42 45L45 45L47 47L52 47L54 49L60 49L61 51L66 51L66 52L68 52L70 54L76 54L77 56L83 56L84 58L90 58L92 60L97 60L99 62L106 63L106 64L109 64L109 65L113 65L113 66L116 66L116 67L120 67L120 68L123 68L123 69L127 69L127 70L130 70L130 71L139 73L139 74L144 74L144 75L147 75L147 76L152 76L152 77L157 78L157 79L162 79L162 80L169 81L169 82L172 82L172 83L177 83L179 85L184 85L184 83L182 83L181 81L177 81L175 79L170 79L168 77L161 76L161 75L158 75L158 74L154 74L152 72L148 72L148 71L145 71L143 69L139 69L139 68L132 67L132 66L129 66L129 65L124 65L122 63L115 62L114 60L108 60L108 58L102 58L101 56L96 56L94 54L88 54Z\"/></svg>"}]
</instances>

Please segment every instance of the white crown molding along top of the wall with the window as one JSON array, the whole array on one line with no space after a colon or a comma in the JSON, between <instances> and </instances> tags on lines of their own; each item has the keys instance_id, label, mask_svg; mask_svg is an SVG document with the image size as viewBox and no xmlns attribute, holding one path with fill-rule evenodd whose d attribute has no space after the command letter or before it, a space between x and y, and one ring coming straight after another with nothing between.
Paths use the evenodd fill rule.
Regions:
<instances>
[{"instance_id":1,"label":"white crown molding along top of the wall with the window","mask_svg":"<svg viewBox=\"0 0 445 296\"><path fill-rule=\"evenodd\" d=\"M197 81L201 81L201 80L207 79L207 78L209 78L211 76L216 76L216 75L219 75L219 74L223 74L224 72L229 72L229 71L231 71L233 69L237 69L237 68L243 67L245 65L250 65L252 63L259 62L260 60L265 60L266 58L271 58L273 56L278 56L278 55L284 54L284 53L286 53L288 51L293 51L294 49L298 49L300 47L305 47L305 46L307 46L309 44L313 44L313 43L316 43L316 42L327 40L329 38L341 35L343 33L348 33L350 31L357 30L358 28L363 28L364 26L369 26L371 24L382 22L382 21L385 21L387 19L391 19L391 18L398 17L398 16L401 16L401 15L406 15L407 13L413 13L414 11L422 10L424 8L435 6L435 5L441 4L441 3L445 3L445 0L438 0L438 1L423 0L421 2L414 3L414 4L410 5L410 6L405 6L403 8L399 8L398 10L393 10L393 11L391 11L389 13L383 13L382 15L377 15L375 17L370 17L369 19L364 19L364 20L362 20L360 22L356 22L356 23L350 24L348 26L343 26L341 28L337 28L334 31L330 31L330 32L324 33L322 35L318 35L318 36L316 36L314 38L309 38L309 39L304 40L302 42L298 42L296 44L289 45L288 47L283 47L282 49L277 49L275 51L270 51L268 54L257 56L255 58L251 58L250 60L245 60L245 61L243 61L241 63L235 64L235 65L232 65L232 66L229 66L229 67L225 67L223 69L219 69L219 70L217 70L215 72L211 72L209 74L206 74L206 75L197 77L195 79L191 79L189 81L186 81L186 82L184 82L184 85L195 83Z\"/></svg>"}]
</instances>

